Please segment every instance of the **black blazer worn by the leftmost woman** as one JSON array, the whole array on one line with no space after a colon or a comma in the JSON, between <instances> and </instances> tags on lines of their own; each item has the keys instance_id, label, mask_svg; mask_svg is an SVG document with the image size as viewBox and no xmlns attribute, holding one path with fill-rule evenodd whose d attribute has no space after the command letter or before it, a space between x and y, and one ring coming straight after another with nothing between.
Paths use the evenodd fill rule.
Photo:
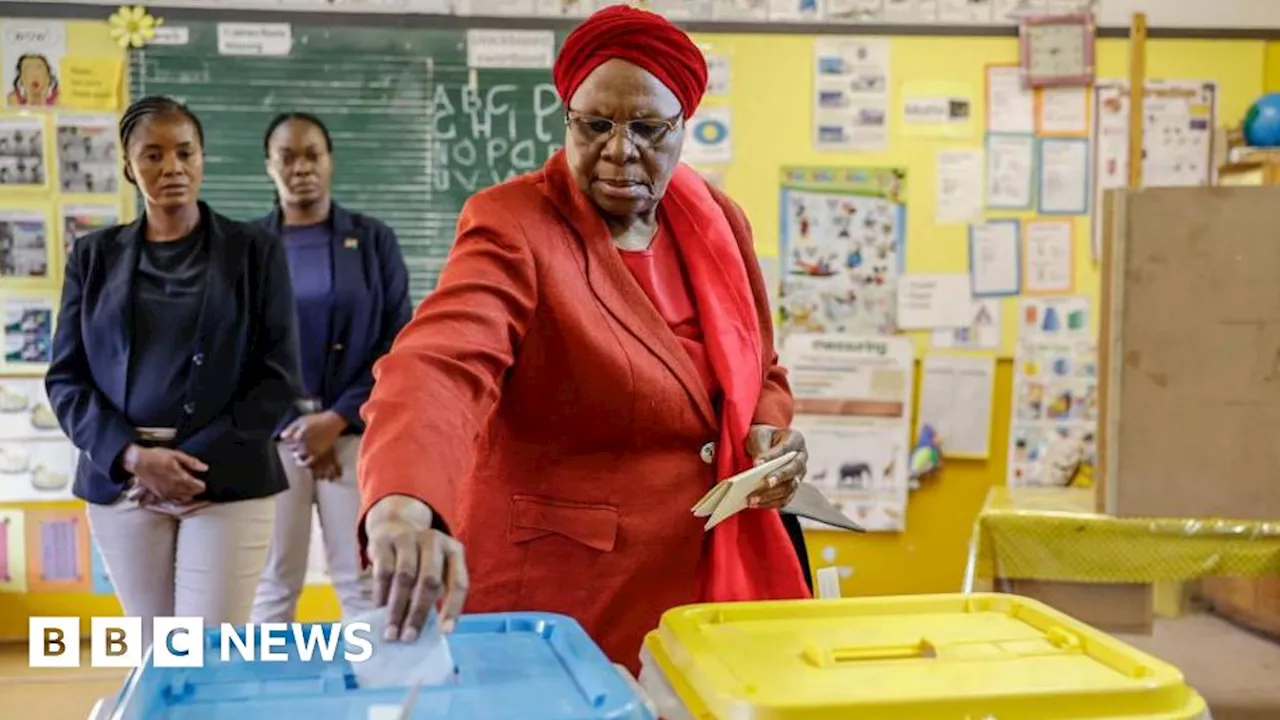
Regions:
<instances>
[{"instance_id":1,"label":"black blazer worn by the leftmost woman","mask_svg":"<svg viewBox=\"0 0 1280 720\"><path fill-rule=\"evenodd\" d=\"M172 446L209 470L197 500L228 502L288 487L274 429L301 388L297 318L280 243L200 204L209 233L209 275L183 420ZM124 416L132 342L133 278L146 218L90 233L72 247L54 355L45 377L54 414L81 450L73 492L111 503L128 474L124 448L138 433Z\"/></svg>"}]
</instances>

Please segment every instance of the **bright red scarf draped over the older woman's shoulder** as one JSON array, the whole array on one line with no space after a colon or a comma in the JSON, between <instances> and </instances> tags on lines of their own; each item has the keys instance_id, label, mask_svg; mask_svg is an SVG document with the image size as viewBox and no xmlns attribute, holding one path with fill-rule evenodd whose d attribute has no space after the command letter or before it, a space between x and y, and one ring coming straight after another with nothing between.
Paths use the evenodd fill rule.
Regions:
<instances>
[{"instance_id":1,"label":"bright red scarf draped over the older woman's shoulder","mask_svg":"<svg viewBox=\"0 0 1280 720\"><path fill-rule=\"evenodd\" d=\"M760 325L746 266L724 210L696 172L678 165L662 211L689 272L712 370L723 391L718 479L751 466L746 436L760 386ZM744 510L709 533L701 602L808 598L795 546L776 510Z\"/></svg>"}]
</instances>

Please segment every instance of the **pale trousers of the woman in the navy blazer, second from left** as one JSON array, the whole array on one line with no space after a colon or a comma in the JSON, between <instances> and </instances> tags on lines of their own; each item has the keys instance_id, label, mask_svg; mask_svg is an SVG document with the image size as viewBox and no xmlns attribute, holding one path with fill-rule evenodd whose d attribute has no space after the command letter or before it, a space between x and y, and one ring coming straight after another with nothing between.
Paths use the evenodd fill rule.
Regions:
<instances>
[{"instance_id":1,"label":"pale trousers of the woman in the navy blazer, second from left","mask_svg":"<svg viewBox=\"0 0 1280 720\"><path fill-rule=\"evenodd\" d=\"M338 438L335 451L342 465L342 478L337 480L316 480L310 470L293 461L287 448L278 450L289 477L289 489L275 496L275 532L253 601L253 621L293 621L307 577L312 509L320 518L324 557L343 615L349 618L372 610L371 573L361 571L360 547L356 542L356 524L360 520L360 488L356 486L360 437Z\"/></svg>"}]
</instances>

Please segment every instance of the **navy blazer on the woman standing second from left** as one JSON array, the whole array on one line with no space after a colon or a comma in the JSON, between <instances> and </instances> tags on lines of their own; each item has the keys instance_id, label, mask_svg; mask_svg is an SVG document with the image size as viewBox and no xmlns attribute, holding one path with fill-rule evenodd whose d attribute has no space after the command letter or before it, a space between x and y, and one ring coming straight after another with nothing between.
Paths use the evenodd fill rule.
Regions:
<instances>
[{"instance_id":1,"label":"navy blazer on the woman standing second from left","mask_svg":"<svg viewBox=\"0 0 1280 720\"><path fill-rule=\"evenodd\" d=\"M280 236L280 208L257 223ZM365 429L360 407L374 389L374 363L413 314L408 269L396 232L383 222L333 202L329 223L334 306L320 402L347 420L344 434L360 434ZM294 418L297 411L291 410L285 423Z\"/></svg>"}]
</instances>

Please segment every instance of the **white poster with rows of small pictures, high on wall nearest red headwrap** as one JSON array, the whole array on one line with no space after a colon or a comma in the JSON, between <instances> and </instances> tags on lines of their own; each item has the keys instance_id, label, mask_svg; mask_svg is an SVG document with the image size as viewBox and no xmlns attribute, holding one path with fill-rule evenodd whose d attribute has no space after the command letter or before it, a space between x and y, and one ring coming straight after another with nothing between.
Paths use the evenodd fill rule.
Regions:
<instances>
[{"instance_id":1,"label":"white poster with rows of small pictures, high on wall nearest red headwrap","mask_svg":"<svg viewBox=\"0 0 1280 720\"><path fill-rule=\"evenodd\" d=\"M888 147L888 40L818 37L813 47L814 147Z\"/></svg>"}]
</instances>

